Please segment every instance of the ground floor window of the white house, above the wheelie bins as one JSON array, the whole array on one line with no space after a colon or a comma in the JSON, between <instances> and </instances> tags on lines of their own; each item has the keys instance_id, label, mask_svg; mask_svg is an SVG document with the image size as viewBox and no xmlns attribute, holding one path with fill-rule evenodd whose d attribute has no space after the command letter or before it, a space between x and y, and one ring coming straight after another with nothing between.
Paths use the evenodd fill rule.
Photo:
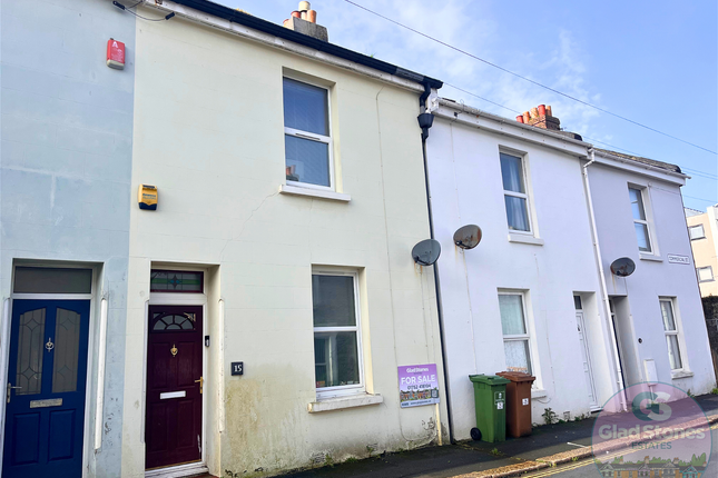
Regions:
<instances>
[{"instance_id":1,"label":"ground floor window of the white house, above the wheelie bins","mask_svg":"<svg viewBox=\"0 0 718 478\"><path fill-rule=\"evenodd\" d=\"M499 292L499 308L506 370L533 375L523 293Z\"/></svg>"}]
</instances>

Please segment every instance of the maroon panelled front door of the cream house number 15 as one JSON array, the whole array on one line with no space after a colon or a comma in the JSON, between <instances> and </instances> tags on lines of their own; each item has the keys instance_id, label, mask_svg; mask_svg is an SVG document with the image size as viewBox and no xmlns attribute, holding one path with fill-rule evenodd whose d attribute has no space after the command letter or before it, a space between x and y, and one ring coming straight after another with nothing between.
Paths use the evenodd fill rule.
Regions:
<instances>
[{"instance_id":1,"label":"maroon panelled front door of the cream house number 15","mask_svg":"<svg viewBox=\"0 0 718 478\"><path fill-rule=\"evenodd\" d=\"M147 469L201 459L201 307L149 307Z\"/></svg>"}]
</instances>

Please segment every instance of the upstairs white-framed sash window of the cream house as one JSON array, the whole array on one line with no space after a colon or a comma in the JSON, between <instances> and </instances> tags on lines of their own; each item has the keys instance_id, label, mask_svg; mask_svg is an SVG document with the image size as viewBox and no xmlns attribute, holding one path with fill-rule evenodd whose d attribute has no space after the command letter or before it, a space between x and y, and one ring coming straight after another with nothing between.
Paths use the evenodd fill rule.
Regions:
<instances>
[{"instance_id":1,"label":"upstairs white-framed sash window of the cream house","mask_svg":"<svg viewBox=\"0 0 718 478\"><path fill-rule=\"evenodd\" d=\"M284 148L287 185L334 189L326 88L284 78Z\"/></svg>"}]
</instances>

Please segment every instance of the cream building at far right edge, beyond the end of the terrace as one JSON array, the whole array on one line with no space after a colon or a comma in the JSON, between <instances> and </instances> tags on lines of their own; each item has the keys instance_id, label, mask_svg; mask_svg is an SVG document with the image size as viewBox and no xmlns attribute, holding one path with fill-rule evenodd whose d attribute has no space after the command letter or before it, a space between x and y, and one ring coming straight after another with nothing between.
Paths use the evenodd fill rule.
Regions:
<instances>
[{"instance_id":1,"label":"cream building at far right edge, beyond the end of the terrace","mask_svg":"<svg viewBox=\"0 0 718 478\"><path fill-rule=\"evenodd\" d=\"M701 297L718 296L718 206L706 212L686 208L690 247Z\"/></svg>"}]
</instances>

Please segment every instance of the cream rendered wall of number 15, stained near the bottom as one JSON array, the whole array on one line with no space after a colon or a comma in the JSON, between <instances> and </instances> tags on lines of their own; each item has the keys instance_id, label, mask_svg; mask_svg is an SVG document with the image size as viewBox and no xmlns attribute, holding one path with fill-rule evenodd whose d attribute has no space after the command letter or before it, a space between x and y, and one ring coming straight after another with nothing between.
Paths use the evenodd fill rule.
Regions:
<instances>
[{"instance_id":1,"label":"cream rendered wall of number 15, stained near the bottom","mask_svg":"<svg viewBox=\"0 0 718 478\"><path fill-rule=\"evenodd\" d=\"M131 208L122 476L144 476L142 330L160 261L210 268L208 305L224 302L224 318L216 307L208 319L213 330L224 320L206 385L212 474L424 445L436 437L436 411L445 435L443 390L440 407L399 407L399 365L442 367L433 273L411 258L430 236L419 94L179 17L138 22L137 49L132 190L156 185L159 206ZM333 84L337 189L348 203L278 192L283 69ZM381 405L307 412L313 265L360 271L365 379ZM238 360L245 375L230 377Z\"/></svg>"}]
</instances>

